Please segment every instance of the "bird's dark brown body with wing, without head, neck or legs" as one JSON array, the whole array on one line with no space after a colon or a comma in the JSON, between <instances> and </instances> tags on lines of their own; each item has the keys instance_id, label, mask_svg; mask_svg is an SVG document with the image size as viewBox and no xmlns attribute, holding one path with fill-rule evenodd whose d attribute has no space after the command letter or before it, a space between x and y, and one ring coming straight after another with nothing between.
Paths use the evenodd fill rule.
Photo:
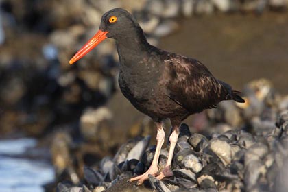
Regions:
<instances>
[{"instance_id":1,"label":"bird's dark brown body with wing, without head, neck or legs","mask_svg":"<svg viewBox=\"0 0 288 192\"><path fill-rule=\"evenodd\" d=\"M117 48L121 53L121 45ZM193 113L215 107L220 101L235 99L230 86L215 79L204 64L195 59L152 45L145 54L134 56L133 62L125 58L125 53L119 58L119 86L123 95L156 122L171 119L180 123Z\"/></svg>"}]
</instances>

